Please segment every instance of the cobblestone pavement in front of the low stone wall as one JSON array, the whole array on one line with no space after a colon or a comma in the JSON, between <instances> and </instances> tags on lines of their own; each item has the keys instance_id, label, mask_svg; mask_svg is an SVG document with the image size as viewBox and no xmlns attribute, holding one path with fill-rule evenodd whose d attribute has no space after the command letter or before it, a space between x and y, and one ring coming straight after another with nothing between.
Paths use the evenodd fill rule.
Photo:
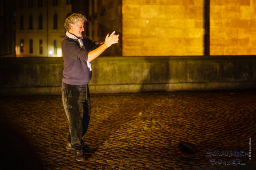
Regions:
<instances>
[{"instance_id":1,"label":"cobblestone pavement in front of the low stone wall","mask_svg":"<svg viewBox=\"0 0 256 170\"><path fill-rule=\"evenodd\" d=\"M182 170L224 166L210 159L227 158L256 163L256 90L91 95L85 162L65 149L61 96L2 97L0 106L2 120L26 137L46 170ZM248 152L250 138L251 159L206 157L214 150ZM180 141L195 144L197 154L182 157Z\"/></svg>"}]
</instances>

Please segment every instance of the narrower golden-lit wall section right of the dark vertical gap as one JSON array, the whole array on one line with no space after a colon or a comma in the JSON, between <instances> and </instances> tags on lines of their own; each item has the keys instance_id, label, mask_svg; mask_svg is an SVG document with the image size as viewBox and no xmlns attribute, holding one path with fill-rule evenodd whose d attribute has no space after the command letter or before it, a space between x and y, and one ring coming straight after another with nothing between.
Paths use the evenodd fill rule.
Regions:
<instances>
[{"instance_id":1,"label":"narrower golden-lit wall section right of the dark vertical gap","mask_svg":"<svg viewBox=\"0 0 256 170\"><path fill-rule=\"evenodd\" d=\"M210 0L210 55L256 55L256 0Z\"/></svg>"}]
</instances>

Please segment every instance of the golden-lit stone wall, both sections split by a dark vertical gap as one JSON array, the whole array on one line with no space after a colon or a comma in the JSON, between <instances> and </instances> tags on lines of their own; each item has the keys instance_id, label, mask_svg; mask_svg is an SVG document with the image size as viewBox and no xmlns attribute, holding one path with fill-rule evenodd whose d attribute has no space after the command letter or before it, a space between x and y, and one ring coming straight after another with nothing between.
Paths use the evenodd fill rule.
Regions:
<instances>
[{"instance_id":1,"label":"golden-lit stone wall, both sections split by a dark vertical gap","mask_svg":"<svg viewBox=\"0 0 256 170\"><path fill-rule=\"evenodd\" d=\"M210 55L256 54L256 1L122 0L122 55L204 55L204 13Z\"/></svg>"}]
</instances>

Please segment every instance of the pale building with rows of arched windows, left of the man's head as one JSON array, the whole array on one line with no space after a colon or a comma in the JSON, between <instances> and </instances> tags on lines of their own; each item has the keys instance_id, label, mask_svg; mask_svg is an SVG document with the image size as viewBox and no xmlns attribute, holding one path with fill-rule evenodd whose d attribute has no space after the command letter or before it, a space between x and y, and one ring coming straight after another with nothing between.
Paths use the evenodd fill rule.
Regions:
<instances>
[{"instance_id":1,"label":"pale building with rows of arched windows, left of the man's head","mask_svg":"<svg viewBox=\"0 0 256 170\"><path fill-rule=\"evenodd\" d=\"M16 57L62 57L70 0L16 0Z\"/></svg>"}]
</instances>

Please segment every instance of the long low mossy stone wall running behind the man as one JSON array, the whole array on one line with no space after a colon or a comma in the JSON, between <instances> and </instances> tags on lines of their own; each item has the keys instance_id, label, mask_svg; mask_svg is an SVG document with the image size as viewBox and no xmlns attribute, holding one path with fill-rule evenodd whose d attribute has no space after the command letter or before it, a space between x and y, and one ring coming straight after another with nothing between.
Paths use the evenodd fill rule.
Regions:
<instances>
[{"instance_id":1,"label":"long low mossy stone wall running behind the man","mask_svg":"<svg viewBox=\"0 0 256 170\"><path fill-rule=\"evenodd\" d=\"M91 93L246 89L256 87L256 58L99 57ZM62 58L0 58L0 95L59 95Z\"/></svg>"}]
</instances>

